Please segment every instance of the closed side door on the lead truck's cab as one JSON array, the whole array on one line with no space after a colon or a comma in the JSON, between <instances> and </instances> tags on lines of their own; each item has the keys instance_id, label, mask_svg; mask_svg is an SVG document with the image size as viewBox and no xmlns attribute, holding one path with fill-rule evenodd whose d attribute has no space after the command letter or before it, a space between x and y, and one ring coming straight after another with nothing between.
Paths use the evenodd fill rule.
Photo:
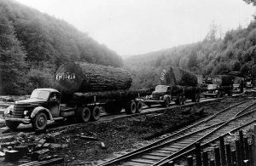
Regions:
<instances>
[{"instance_id":1,"label":"closed side door on the lead truck's cab","mask_svg":"<svg viewBox=\"0 0 256 166\"><path fill-rule=\"evenodd\" d=\"M52 92L49 94L48 106L46 106L51 112L52 117L60 117L60 94Z\"/></svg>"}]
</instances>

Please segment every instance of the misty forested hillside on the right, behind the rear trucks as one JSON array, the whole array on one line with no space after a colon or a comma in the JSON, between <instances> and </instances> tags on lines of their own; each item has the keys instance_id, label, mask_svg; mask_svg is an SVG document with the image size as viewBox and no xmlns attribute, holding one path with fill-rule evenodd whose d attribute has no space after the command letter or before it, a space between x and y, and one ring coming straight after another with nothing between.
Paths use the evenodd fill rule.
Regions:
<instances>
[{"instance_id":1,"label":"misty forested hillside on the right, behind the rear trucks","mask_svg":"<svg viewBox=\"0 0 256 166\"><path fill-rule=\"evenodd\" d=\"M253 0L244 1L253 3ZM252 17L253 21L247 28L227 31L224 37L218 37L212 26L201 42L125 59L125 67L131 70L133 76L132 87L153 88L159 83L159 72L164 66L177 66L204 77L224 71L256 77L256 17Z\"/></svg>"}]
</instances>

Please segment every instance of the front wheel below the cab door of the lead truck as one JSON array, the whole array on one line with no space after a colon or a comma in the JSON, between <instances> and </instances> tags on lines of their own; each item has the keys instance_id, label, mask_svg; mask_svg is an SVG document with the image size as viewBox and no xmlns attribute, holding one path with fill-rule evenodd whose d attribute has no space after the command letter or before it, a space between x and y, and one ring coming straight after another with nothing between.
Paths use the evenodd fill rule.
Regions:
<instances>
[{"instance_id":1,"label":"front wheel below the cab door of the lead truck","mask_svg":"<svg viewBox=\"0 0 256 166\"><path fill-rule=\"evenodd\" d=\"M47 125L47 115L45 112L39 112L32 120L33 129L44 129Z\"/></svg>"}]
</instances>

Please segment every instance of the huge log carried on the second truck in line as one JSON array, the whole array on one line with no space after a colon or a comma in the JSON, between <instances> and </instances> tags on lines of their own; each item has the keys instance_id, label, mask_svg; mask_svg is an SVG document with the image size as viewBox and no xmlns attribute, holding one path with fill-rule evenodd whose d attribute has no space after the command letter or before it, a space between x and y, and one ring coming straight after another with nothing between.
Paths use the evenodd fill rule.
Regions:
<instances>
[{"instance_id":1,"label":"huge log carried on the second truck in line","mask_svg":"<svg viewBox=\"0 0 256 166\"><path fill-rule=\"evenodd\" d=\"M160 83L163 85L181 85L196 87L197 77L192 73L186 72L178 67L166 66L161 72Z\"/></svg>"}]
</instances>

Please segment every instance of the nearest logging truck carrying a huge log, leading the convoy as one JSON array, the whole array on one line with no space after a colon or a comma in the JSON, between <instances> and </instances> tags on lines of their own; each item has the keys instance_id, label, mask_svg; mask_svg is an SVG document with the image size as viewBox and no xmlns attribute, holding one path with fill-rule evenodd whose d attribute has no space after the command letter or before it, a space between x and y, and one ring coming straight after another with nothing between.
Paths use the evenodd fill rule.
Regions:
<instances>
[{"instance_id":1,"label":"nearest logging truck carrying a huge log, leading the convoy","mask_svg":"<svg viewBox=\"0 0 256 166\"><path fill-rule=\"evenodd\" d=\"M45 129L48 121L76 117L82 123L97 121L101 108L108 113L141 112L137 98L147 90L129 90L131 76L122 69L93 64L68 63L55 75L56 89L34 89L29 99L15 101L4 112L5 123L16 129L20 123L32 123L33 129Z\"/></svg>"}]
</instances>

